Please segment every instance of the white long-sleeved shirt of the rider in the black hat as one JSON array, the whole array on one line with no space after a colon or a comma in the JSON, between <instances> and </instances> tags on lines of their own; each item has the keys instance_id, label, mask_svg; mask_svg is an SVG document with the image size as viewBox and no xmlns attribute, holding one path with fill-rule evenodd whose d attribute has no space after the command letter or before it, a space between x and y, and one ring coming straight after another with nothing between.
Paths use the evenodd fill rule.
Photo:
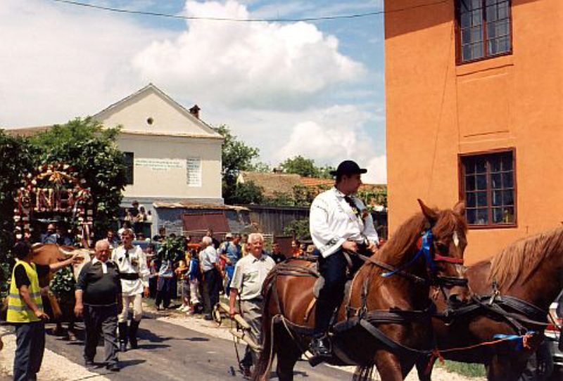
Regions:
<instances>
[{"instance_id":1,"label":"white long-sleeved shirt of the rider in the black hat","mask_svg":"<svg viewBox=\"0 0 563 381\"><path fill-rule=\"evenodd\" d=\"M362 200L350 196L358 209L356 214L344 196L338 189L331 188L317 195L311 204L309 230L312 242L325 258L338 251L346 240L379 243L372 214Z\"/></svg>"}]
</instances>

